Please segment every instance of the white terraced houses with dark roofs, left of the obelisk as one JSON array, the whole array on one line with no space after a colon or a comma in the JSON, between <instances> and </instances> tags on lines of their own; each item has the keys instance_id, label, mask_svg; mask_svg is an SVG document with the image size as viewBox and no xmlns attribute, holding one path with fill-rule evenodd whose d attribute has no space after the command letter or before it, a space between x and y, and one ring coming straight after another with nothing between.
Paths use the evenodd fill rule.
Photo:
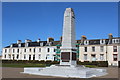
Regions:
<instances>
[{"instance_id":1,"label":"white terraced houses with dark roofs, left of the obelisk","mask_svg":"<svg viewBox=\"0 0 120 80\"><path fill-rule=\"evenodd\" d=\"M55 49L52 41L36 41L27 40L25 43L18 41L3 48L3 60L51 60L55 59Z\"/></svg>"}]
</instances>

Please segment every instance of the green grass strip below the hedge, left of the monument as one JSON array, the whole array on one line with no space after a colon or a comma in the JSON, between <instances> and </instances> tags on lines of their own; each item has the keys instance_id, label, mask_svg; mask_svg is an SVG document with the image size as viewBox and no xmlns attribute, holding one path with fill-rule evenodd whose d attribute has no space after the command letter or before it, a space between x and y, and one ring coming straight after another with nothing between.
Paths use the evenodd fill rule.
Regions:
<instances>
[{"instance_id":1,"label":"green grass strip below the hedge, left of the monument","mask_svg":"<svg viewBox=\"0 0 120 80\"><path fill-rule=\"evenodd\" d=\"M33 64L33 63L3 63L2 67L18 67L18 68L23 68L23 67L45 67L46 64Z\"/></svg>"}]
</instances>

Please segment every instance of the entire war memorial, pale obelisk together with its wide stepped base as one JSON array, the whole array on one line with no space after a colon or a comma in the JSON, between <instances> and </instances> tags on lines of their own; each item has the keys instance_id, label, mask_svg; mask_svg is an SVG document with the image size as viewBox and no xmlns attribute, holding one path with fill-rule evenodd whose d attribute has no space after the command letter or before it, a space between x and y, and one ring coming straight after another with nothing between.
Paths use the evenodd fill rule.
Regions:
<instances>
[{"instance_id":1,"label":"entire war memorial, pale obelisk together with its wide stepped base","mask_svg":"<svg viewBox=\"0 0 120 80\"><path fill-rule=\"evenodd\" d=\"M24 68L23 73L72 78L90 78L107 74L106 69L86 68L76 64L75 14L66 8L63 21L61 59L59 65L46 68Z\"/></svg>"}]
</instances>

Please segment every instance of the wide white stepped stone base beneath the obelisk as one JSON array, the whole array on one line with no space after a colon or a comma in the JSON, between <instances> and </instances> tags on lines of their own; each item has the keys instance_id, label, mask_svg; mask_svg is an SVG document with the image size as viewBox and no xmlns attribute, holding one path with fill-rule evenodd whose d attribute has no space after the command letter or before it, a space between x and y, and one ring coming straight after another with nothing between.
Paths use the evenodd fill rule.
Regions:
<instances>
[{"instance_id":1,"label":"wide white stepped stone base beneath the obelisk","mask_svg":"<svg viewBox=\"0 0 120 80\"><path fill-rule=\"evenodd\" d=\"M106 69L86 68L82 66L55 66L46 68L24 68L24 72L33 75L57 76L67 78L91 78L106 75Z\"/></svg>"}]
</instances>

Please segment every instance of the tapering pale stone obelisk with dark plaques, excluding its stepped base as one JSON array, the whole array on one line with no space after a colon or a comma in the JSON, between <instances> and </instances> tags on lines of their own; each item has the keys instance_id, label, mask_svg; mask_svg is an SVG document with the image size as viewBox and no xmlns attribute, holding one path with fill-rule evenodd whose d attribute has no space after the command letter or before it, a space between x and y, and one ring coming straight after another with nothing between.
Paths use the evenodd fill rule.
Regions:
<instances>
[{"instance_id":1,"label":"tapering pale stone obelisk with dark plaques, excluding its stepped base","mask_svg":"<svg viewBox=\"0 0 120 80\"><path fill-rule=\"evenodd\" d=\"M66 8L63 21L63 35L60 65L76 66L75 15L72 8Z\"/></svg>"}]
</instances>

